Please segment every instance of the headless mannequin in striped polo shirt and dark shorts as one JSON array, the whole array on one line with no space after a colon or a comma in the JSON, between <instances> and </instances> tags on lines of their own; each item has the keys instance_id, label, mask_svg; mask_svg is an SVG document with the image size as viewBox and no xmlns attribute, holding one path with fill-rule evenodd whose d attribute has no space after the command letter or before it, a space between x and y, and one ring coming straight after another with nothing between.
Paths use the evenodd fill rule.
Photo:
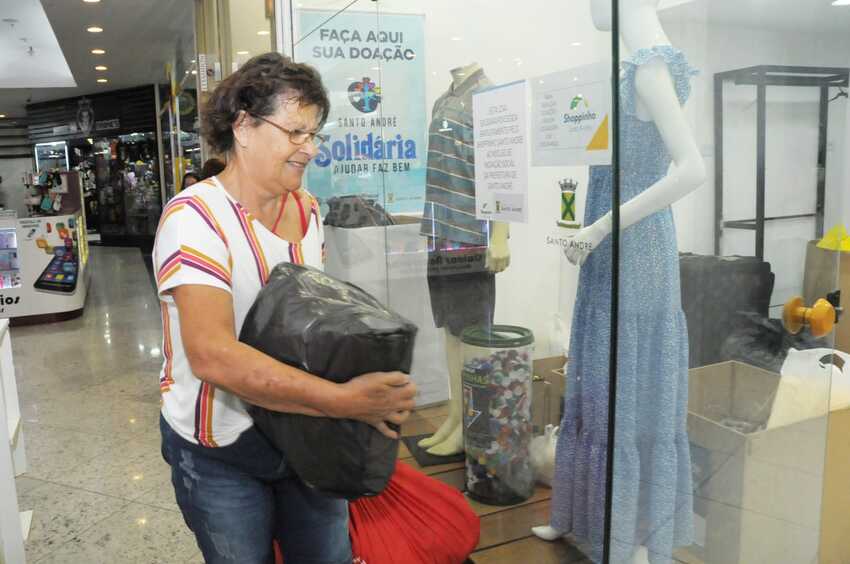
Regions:
<instances>
[{"instance_id":1,"label":"headless mannequin in striped polo shirt and dark shorts","mask_svg":"<svg viewBox=\"0 0 850 564\"><path fill-rule=\"evenodd\" d=\"M432 242L439 239L442 243L449 243L455 249L455 251L448 251L449 253L460 252L474 254L476 253L476 248L478 249L478 253L481 252L480 249L482 247L486 248L486 252L483 257L483 269L491 275L494 275L504 271L510 264L510 249L508 247L509 228L507 223L477 222L474 229L479 230L480 237L472 236L467 238L463 236L463 233L459 232L449 231L447 233L435 233L436 230L442 228L442 225L440 222L434 221L433 217L429 217L431 215L436 216L439 214L439 210L435 208L439 207L440 202L443 202L444 195L441 194L438 189L439 186L435 186L441 184L441 178L439 177L439 169L442 166L440 153L444 153L447 150L453 150L455 143L460 145L461 141L467 147L471 145L471 96L478 88L489 84L489 81L484 76L484 72L480 65L474 62L462 67L454 68L450 72L452 75L452 85L449 88L449 91L437 100L437 103L434 105L432 116L432 124L430 128L431 147L429 147L430 150L428 156L429 177L427 180L428 189L426 192L426 214L423 219L422 233L423 235L429 236ZM438 146L439 143L443 142L445 139L450 139L452 141L449 145L451 149L445 149L444 147ZM474 182L474 156L471 151L463 148L458 149L458 151L459 152L457 154L453 154L451 158L464 163L467 182ZM433 155L437 156L433 157ZM437 170L435 171L434 169ZM463 200L463 203L467 206L464 210L464 215L474 216L474 199L468 197L466 200ZM453 209L457 209L458 206L453 205L451 207ZM467 225L465 227L468 230L472 226ZM438 245L439 244L440 243L438 243ZM434 256L436 257L437 254ZM434 259L429 258L429 261L433 260ZM470 275L475 276L474 273ZM463 428L461 424L463 420L461 405L463 398L461 389L463 358L460 332L463 329L464 324L472 325L476 323L492 323L492 319L487 318L488 316L485 315L481 317L480 311L474 312L474 315L467 320L463 320L463 323L460 323L457 320L444 322L440 319L447 315L445 312L437 311L441 308L445 309L447 307L445 304L442 306L438 305L443 302L443 299L441 299L443 297L446 298L449 308L454 306L455 309L463 309L460 307L464 305L462 303L462 299L458 300L457 298L452 298L447 295L458 289L456 283L448 285L443 284L444 281L452 279L453 277L451 275L432 275L431 268L429 267L429 287L432 294L432 309L435 311L434 318L437 325L443 326L444 328L446 362L449 369L450 400L448 418L443 422L436 433L421 440L419 442L419 446L427 448L427 452L429 454L436 456L451 456L453 454L463 452ZM458 278L457 282L463 284L463 279ZM489 286L489 295L487 297L483 295L475 295L474 290L472 290L467 293L466 301L477 302L479 300L489 300L489 306L484 305L484 307L490 308L491 311L489 313L490 317L492 317L492 306L494 300L494 296L492 294L494 291L495 286L491 283ZM455 301L456 303L452 304L452 301ZM476 309L475 303L466 304L467 309L469 309L470 306L471 309ZM449 315L449 317L451 316Z\"/></svg>"}]
</instances>

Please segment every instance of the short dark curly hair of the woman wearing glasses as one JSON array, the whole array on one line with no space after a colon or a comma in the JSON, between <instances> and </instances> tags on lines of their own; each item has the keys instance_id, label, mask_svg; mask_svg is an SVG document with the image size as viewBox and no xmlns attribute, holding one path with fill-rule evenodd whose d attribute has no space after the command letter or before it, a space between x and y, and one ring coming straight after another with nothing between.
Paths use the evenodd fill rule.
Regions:
<instances>
[{"instance_id":1,"label":"short dark curly hair of the woman wearing glasses","mask_svg":"<svg viewBox=\"0 0 850 564\"><path fill-rule=\"evenodd\" d=\"M266 117L278 108L282 94L293 95L301 106L318 106L324 125L331 103L319 72L294 63L280 53L251 58L213 91L201 117L201 132L217 153L233 148L233 124L240 111Z\"/></svg>"}]
</instances>

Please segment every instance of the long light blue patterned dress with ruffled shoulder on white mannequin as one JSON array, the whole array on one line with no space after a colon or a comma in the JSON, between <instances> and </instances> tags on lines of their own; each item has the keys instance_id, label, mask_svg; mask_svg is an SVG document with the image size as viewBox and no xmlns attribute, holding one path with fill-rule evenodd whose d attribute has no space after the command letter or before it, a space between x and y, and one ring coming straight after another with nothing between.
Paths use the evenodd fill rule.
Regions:
<instances>
[{"instance_id":1,"label":"long light blue patterned dress with ruffled shoulder on white mannequin","mask_svg":"<svg viewBox=\"0 0 850 564\"><path fill-rule=\"evenodd\" d=\"M680 103L696 74L681 51L643 49L623 63L621 194L634 198L667 175L671 157L653 122L637 118L635 72L664 60ZM591 167L585 225L611 210L611 167ZM693 536L687 437L688 332L671 209L621 238L618 387L614 448L612 563L638 546L652 564L671 561ZM552 526L602 559L608 446L611 238L582 266L570 339L565 414L558 438Z\"/></svg>"}]
</instances>

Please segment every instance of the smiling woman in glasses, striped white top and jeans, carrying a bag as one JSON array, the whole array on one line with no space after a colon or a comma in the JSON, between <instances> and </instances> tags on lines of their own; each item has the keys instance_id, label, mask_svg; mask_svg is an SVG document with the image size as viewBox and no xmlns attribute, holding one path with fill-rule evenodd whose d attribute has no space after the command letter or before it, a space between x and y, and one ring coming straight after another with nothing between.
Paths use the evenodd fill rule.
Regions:
<instances>
[{"instance_id":1,"label":"smiling woman in glasses, striped white top and jeans, carrying a bag","mask_svg":"<svg viewBox=\"0 0 850 564\"><path fill-rule=\"evenodd\" d=\"M246 402L366 421L393 438L386 422L402 423L414 405L404 374L334 384L237 340L275 264L321 266L318 206L301 182L328 111L314 69L276 53L251 59L213 92L203 118L205 138L227 155L227 168L163 210L154 249L162 451L208 563L266 564L273 538L287 564L351 562L347 504L287 471Z\"/></svg>"}]
</instances>

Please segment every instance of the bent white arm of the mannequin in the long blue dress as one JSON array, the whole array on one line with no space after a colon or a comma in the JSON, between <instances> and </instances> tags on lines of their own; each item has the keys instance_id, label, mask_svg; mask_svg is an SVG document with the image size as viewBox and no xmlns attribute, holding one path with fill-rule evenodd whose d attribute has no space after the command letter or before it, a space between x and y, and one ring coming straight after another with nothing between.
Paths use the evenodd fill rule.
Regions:
<instances>
[{"instance_id":1,"label":"bent white arm of the mannequin in the long blue dress","mask_svg":"<svg viewBox=\"0 0 850 564\"><path fill-rule=\"evenodd\" d=\"M667 176L620 206L621 229L670 206L705 180L705 162L679 104L666 63L655 60L637 69L635 88L642 108L655 122L673 158L673 166ZM611 230L611 212L608 212L576 234L566 250L567 258L573 264L584 263Z\"/></svg>"}]
</instances>

